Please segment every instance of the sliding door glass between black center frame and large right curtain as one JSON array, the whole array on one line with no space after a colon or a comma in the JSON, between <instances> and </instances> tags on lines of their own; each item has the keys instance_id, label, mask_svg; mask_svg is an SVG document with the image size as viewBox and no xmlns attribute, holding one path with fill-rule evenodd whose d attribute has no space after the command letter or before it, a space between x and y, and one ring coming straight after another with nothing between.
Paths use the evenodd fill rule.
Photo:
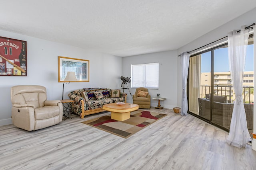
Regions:
<instances>
[{"instance_id":1,"label":"sliding door glass between black center frame and large right curtain","mask_svg":"<svg viewBox=\"0 0 256 170\"><path fill-rule=\"evenodd\" d=\"M214 49L212 53L214 57L212 122L229 129L234 107L232 103L234 92L228 63L228 46Z\"/></svg>"}]
</instances>

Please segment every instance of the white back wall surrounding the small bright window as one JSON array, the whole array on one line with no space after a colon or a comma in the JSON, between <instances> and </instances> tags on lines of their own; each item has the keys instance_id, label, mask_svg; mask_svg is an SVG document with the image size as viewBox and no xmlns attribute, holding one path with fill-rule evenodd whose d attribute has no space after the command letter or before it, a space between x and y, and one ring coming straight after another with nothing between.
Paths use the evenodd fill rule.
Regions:
<instances>
[{"instance_id":1,"label":"white back wall surrounding the small bright window","mask_svg":"<svg viewBox=\"0 0 256 170\"><path fill-rule=\"evenodd\" d=\"M159 89L149 89L151 95L151 107L158 105L158 100L152 100L156 97L156 94L160 94L160 97L167 98L161 101L161 106L172 109L177 105L177 52L163 51L159 53L150 53L143 55L136 55L123 58L123 75L124 77L131 77L131 64L145 64L159 62ZM121 86L122 83L120 83ZM130 83L127 83L129 88ZM132 94L135 93L135 88L130 88ZM128 94L127 101L132 103L132 97L128 90L125 90Z\"/></svg>"}]
</instances>

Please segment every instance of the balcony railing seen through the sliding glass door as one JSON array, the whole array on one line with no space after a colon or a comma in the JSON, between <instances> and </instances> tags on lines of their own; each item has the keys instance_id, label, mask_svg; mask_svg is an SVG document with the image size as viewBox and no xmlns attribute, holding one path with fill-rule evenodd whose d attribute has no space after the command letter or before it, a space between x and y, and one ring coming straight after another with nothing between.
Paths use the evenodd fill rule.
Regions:
<instances>
[{"instance_id":1,"label":"balcony railing seen through the sliding glass door","mask_svg":"<svg viewBox=\"0 0 256 170\"><path fill-rule=\"evenodd\" d=\"M233 86L213 86L214 95L216 96L227 96L228 101L232 102L233 97ZM253 98L251 99L251 94L253 94L253 86L243 86L243 98L244 103L252 103ZM211 86L200 86L200 98L205 98L205 94L211 92ZM249 94L248 94L249 93ZM248 99L245 100L246 96Z\"/></svg>"}]
</instances>

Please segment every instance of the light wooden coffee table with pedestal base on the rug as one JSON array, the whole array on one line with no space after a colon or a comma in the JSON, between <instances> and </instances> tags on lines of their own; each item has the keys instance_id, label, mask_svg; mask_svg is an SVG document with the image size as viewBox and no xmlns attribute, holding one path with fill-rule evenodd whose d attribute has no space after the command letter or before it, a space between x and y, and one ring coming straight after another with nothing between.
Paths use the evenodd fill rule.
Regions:
<instances>
[{"instance_id":1,"label":"light wooden coffee table with pedestal base on the rug","mask_svg":"<svg viewBox=\"0 0 256 170\"><path fill-rule=\"evenodd\" d=\"M125 103L118 105L116 103L104 104L103 109L111 111L111 119L124 121L131 117L131 111L139 109L138 104Z\"/></svg>"}]
</instances>

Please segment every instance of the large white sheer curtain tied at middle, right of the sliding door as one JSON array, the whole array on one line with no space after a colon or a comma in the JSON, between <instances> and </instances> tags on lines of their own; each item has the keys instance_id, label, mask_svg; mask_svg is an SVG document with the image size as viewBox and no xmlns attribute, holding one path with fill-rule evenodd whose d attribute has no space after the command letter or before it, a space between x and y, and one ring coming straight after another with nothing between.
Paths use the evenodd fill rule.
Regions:
<instances>
[{"instance_id":1,"label":"large white sheer curtain tied at middle, right of the sliding door","mask_svg":"<svg viewBox=\"0 0 256 170\"><path fill-rule=\"evenodd\" d=\"M245 26L241 27L240 33L237 33L237 30L228 33L228 59L236 99L226 142L239 148L246 147L246 142L251 141L242 96L248 37L249 29L245 29Z\"/></svg>"}]
</instances>

